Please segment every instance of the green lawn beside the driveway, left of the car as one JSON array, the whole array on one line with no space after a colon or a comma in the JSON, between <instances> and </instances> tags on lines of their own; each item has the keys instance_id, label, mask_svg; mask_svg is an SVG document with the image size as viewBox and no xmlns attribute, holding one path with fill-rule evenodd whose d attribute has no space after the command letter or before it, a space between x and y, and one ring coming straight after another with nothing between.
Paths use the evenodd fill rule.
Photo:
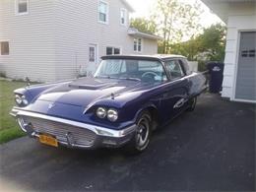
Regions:
<instances>
[{"instance_id":1,"label":"green lawn beside the driveway, left of the car","mask_svg":"<svg viewBox=\"0 0 256 192\"><path fill-rule=\"evenodd\" d=\"M9 114L15 105L13 91L25 86L25 82L0 80L0 144L25 135Z\"/></svg>"}]
</instances>

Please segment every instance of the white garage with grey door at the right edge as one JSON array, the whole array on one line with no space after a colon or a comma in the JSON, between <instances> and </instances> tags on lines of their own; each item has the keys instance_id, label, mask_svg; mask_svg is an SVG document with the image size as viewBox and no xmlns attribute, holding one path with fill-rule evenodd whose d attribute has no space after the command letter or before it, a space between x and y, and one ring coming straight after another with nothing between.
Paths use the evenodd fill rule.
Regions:
<instances>
[{"instance_id":1,"label":"white garage with grey door at the right edge","mask_svg":"<svg viewBox=\"0 0 256 192\"><path fill-rule=\"evenodd\" d=\"M256 102L256 0L203 0L227 25L223 96Z\"/></svg>"}]
</instances>

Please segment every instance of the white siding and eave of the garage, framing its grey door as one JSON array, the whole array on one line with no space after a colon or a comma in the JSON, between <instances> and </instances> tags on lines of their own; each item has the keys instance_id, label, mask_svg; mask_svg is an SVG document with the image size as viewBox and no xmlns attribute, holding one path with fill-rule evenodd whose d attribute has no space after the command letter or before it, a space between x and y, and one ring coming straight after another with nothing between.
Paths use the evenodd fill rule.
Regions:
<instances>
[{"instance_id":1,"label":"white siding and eave of the garage, framing its grey door","mask_svg":"<svg viewBox=\"0 0 256 192\"><path fill-rule=\"evenodd\" d=\"M224 59L223 96L233 99L239 51L239 32L256 30L256 9L252 3L230 4Z\"/></svg>"}]
</instances>

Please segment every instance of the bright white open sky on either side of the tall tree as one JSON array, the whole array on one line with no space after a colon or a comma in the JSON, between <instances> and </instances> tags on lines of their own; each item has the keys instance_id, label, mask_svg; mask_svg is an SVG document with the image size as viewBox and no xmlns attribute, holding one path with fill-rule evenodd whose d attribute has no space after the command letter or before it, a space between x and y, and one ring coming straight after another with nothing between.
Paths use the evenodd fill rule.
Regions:
<instances>
[{"instance_id":1,"label":"bright white open sky on either side of the tall tree","mask_svg":"<svg viewBox=\"0 0 256 192\"><path fill-rule=\"evenodd\" d=\"M158 0L127 0L127 2L135 9L135 13L131 15L132 18L145 17L148 18L154 5ZM192 2L193 0L186 0ZM205 28L210 27L212 24L220 23L222 20L216 16L211 10L202 3L204 13L201 16L201 25Z\"/></svg>"}]
</instances>

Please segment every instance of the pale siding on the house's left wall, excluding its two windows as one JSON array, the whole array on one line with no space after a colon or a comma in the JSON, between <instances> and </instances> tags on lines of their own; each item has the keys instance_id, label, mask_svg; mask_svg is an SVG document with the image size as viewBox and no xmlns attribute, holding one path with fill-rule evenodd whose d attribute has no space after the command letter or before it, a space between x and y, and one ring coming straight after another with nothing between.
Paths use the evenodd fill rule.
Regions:
<instances>
[{"instance_id":1,"label":"pale siding on the house's left wall, excluding its two windows","mask_svg":"<svg viewBox=\"0 0 256 192\"><path fill-rule=\"evenodd\" d=\"M0 55L0 70L9 77L54 80L52 1L30 1L30 13L16 16L15 0L0 1L0 41L9 40L10 54Z\"/></svg>"}]
</instances>

